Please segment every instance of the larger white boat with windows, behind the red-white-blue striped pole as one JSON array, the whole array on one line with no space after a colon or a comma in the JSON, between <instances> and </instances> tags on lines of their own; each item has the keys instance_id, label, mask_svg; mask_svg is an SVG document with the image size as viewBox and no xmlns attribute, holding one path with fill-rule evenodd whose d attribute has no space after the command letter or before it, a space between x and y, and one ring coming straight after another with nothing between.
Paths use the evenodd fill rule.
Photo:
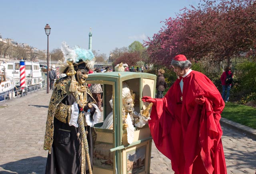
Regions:
<instances>
[{"instance_id":1,"label":"larger white boat with windows, behind the red-white-blue striped pole","mask_svg":"<svg viewBox=\"0 0 256 174\"><path fill-rule=\"evenodd\" d=\"M16 90L20 87L20 61L4 61L2 66L6 69L6 76L14 78ZM42 72L39 62L25 61L25 78L26 86L28 88L36 86L40 88L42 86Z\"/></svg>"}]
</instances>

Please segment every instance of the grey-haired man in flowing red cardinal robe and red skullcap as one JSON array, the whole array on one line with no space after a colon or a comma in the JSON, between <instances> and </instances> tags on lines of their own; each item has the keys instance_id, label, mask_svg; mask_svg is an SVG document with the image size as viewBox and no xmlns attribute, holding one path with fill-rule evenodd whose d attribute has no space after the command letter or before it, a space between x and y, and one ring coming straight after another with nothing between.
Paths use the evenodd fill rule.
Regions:
<instances>
[{"instance_id":1,"label":"grey-haired man in flowing red cardinal robe and red skullcap","mask_svg":"<svg viewBox=\"0 0 256 174\"><path fill-rule=\"evenodd\" d=\"M226 174L220 113L225 103L204 74L191 70L184 55L172 60L178 79L164 98L149 96L148 121L157 149L172 162L175 174Z\"/></svg>"}]
</instances>

